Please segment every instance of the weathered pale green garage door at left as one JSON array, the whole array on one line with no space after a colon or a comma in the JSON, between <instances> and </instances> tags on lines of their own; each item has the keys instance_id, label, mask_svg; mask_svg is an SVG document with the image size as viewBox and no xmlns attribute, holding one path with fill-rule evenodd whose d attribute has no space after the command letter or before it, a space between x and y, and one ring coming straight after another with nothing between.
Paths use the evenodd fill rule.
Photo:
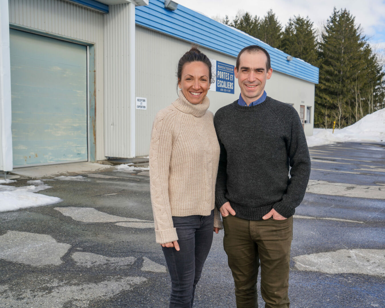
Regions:
<instances>
[{"instance_id":1,"label":"weathered pale green garage door at left","mask_svg":"<svg viewBox=\"0 0 385 308\"><path fill-rule=\"evenodd\" d=\"M13 167L87 161L87 49L10 30Z\"/></svg>"}]
</instances>

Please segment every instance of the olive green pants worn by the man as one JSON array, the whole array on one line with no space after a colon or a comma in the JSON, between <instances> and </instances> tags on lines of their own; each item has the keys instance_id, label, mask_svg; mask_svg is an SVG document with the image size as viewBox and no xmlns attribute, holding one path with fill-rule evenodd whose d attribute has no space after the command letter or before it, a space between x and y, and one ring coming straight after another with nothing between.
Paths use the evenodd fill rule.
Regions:
<instances>
[{"instance_id":1,"label":"olive green pants worn by the man","mask_svg":"<svg viewBox=\"0 0 385 308\"><path fill-rule=\"evenodd\" d=\"M288 308L293 217L253 221L228 215L223 217L223 228L223 246L233 273L237 308L258 308L259 262L265 308Z\"/></svg>"}]
</instances>

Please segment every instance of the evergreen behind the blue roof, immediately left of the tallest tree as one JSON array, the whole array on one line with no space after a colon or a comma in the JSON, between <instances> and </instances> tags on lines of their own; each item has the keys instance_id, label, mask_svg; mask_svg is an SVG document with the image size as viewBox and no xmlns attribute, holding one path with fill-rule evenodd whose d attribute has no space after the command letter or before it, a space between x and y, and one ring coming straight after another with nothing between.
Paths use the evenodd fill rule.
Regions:
<instances>
[{"instance_id":1,"label":"evergreen behind the blue roof, immediately left of the tallest tree","mask_svg":"<svg viewBox=\"0 0 385 308\"><path fill-rule=\"evenodd\" d=\"M282 36L281 50L317 66L317 43L309 17L298 15L289 19Z\"/></svg>"}]
</instances>

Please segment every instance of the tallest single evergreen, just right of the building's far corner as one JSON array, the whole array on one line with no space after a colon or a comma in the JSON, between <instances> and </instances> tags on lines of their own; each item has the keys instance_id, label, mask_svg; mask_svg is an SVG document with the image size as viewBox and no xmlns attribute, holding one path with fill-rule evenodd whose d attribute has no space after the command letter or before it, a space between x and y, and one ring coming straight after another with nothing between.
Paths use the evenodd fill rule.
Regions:
<instances>
[{"instance_id":1,"label":"tallest single evergreen, just right of the building's far corner","mask_svg":"<svg viewBox=\"0 0 385 308\"><path fill-rule=\"evenodd\" d=\"M333 9L328 19L320 44L320 80L316 87L315 119L319 112L329 109L330 121L336 120L338 127L346 126L349 107L358 95L352 89L359 89L357 72L362 69L362 49L365 37L360 27L355 27L354 17L346 9ZM322 116L323 118L323 112ZM321 123L316 123L321 124ZM328 126L326 119L326 126Z\"/></svg>"}]
</instances>

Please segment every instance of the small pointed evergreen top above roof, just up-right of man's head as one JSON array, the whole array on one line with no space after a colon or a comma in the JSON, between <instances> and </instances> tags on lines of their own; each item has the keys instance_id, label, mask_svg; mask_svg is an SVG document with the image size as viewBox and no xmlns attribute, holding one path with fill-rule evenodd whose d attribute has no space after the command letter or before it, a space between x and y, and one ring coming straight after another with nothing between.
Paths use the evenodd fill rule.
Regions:
<instances>
[{"instance_id":1,"label":"small pointed evergreen top above roof, just up-right of man's head","mask_svg":"<svg viewBox=\"0 0 385 308\"><path fill-rule=\"evenodd\" d=\"M271 47L280 48L282 38L282 26L273 13L269 10L267 14L259 21L259 27L256 35L257 39L269 44Z\"/></svg>"}]
</instances>

